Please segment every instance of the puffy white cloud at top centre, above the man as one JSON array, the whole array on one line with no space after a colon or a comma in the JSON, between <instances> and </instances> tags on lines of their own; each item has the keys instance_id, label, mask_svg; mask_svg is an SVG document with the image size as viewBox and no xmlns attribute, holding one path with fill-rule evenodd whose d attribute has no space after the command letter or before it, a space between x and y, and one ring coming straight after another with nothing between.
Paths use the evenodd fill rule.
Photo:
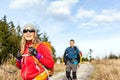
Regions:
<instances>
[{"instance_id":1,"label":"puffy white cloud at top centre, above the man","mask_svg":"<svg viewBox=\"0 0 120 80\"><path fill-rule=\"evenodd\" d=\"M72 18L71 7L78 1L79 0L59 0L51 2L47 8L47 15L58 20L70 20Z\"/></svg>"}]
</instances>

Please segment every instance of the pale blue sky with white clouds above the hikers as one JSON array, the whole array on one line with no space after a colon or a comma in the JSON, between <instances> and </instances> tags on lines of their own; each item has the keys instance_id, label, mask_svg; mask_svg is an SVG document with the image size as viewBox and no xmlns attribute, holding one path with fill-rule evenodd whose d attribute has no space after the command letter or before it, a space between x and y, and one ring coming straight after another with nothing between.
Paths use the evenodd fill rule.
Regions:
<instances>
[{"instance_id":1,"label":"pale blue sky with white clouds above the hikers","mask_svg":"<svg viewBox=\"0 0 120 80\"><path fill-rule=\"evenodd\" d=\"M120 55L120 0L0 0L0 18L46 32L62 56L69 40L87 56Z\"/></svg>"}]
</instances>

